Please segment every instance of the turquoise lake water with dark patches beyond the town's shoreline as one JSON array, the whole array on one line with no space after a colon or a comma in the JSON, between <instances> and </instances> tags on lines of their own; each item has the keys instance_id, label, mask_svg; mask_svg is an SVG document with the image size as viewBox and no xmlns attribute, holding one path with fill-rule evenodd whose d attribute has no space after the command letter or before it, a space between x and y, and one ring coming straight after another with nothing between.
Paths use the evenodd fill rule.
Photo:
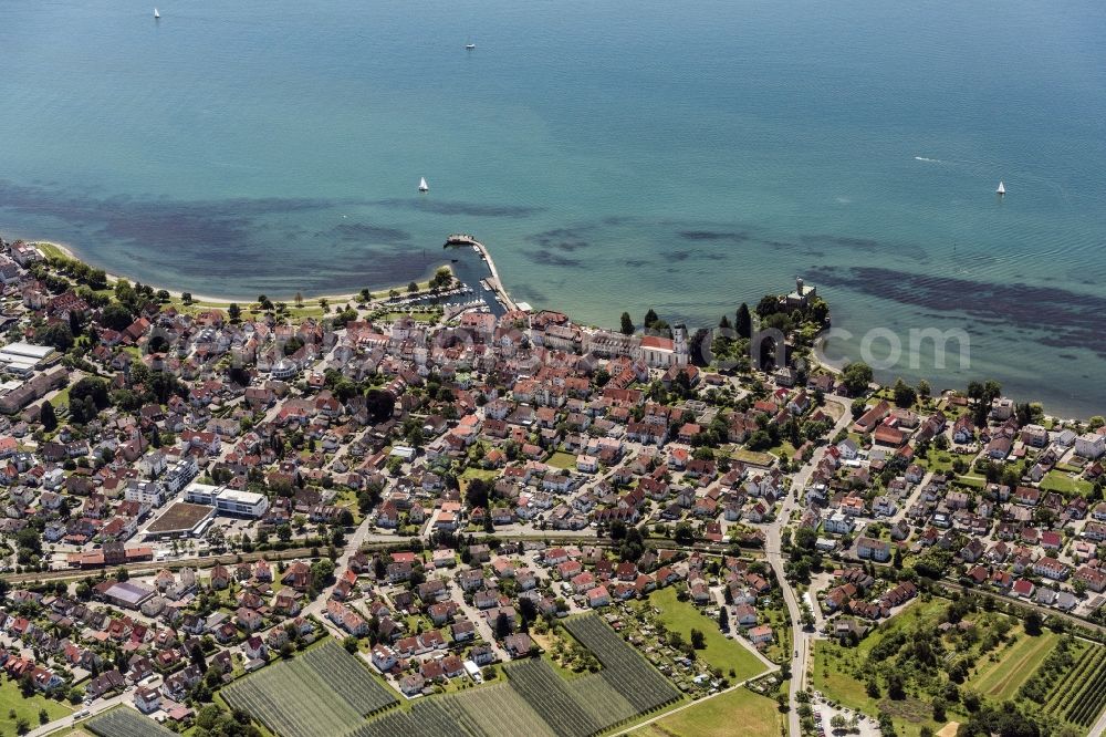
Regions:
<instances>
[{"instance_id":1,"label":"turquoise lake water with dark patches beyond the town's shoreline","mask_svg":"<svg viewBox=\"0 0 1106 737\"><path fill-rule=\"evenodd\" d=\"M1104 49L1100 0L3 0L0 232L246 298L405 283L465 230L606 325L804 276L856 335L971 335L885 378L1087 415Z\"/></svg>"}]
</instances>

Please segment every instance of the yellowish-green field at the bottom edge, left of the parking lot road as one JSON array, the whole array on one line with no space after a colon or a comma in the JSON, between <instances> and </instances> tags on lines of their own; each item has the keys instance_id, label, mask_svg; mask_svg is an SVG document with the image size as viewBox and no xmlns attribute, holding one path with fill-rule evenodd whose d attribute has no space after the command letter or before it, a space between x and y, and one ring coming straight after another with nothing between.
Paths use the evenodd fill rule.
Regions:
<instances>
[{"instance_id":1,"label":"yellowish-green field at the bottom edge, left of the parking lot road","mask_svg":"<svg viewBox=\"0 0 1106 737\"><path fill-rule=\"evenodd\" d=\"M741 725L735 729L734 725ZM630 733L633 737L700 735L723 737L774 737L780 734L783 715L775 702L748 688L734 688L701 700Z\"/></svg>"}]
</instances>

